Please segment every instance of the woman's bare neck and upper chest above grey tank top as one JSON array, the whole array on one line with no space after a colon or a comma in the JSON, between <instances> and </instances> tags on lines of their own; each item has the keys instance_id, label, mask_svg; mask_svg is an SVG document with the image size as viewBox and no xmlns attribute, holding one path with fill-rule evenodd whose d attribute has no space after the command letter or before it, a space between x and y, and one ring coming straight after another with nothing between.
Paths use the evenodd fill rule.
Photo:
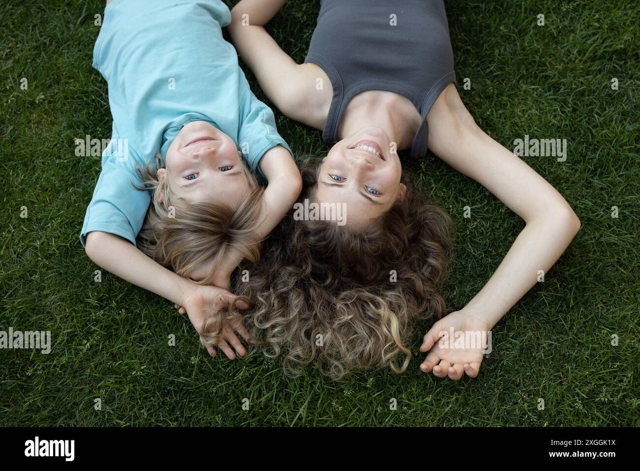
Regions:
<instances>
[{"instance_id":1,"label":"woman's bare neck and upper chest above grey tank top","mask_svg":"<svg viewBox=\"0 0 640 471\"><path fill-rule=\"evenodd\" d=\"M342 114L338 139L351 136L365 126L384 129L397 149L408 149L422 119L413 103L392 92L371 90L355 95Z\"/></svg>"}]
</instances>

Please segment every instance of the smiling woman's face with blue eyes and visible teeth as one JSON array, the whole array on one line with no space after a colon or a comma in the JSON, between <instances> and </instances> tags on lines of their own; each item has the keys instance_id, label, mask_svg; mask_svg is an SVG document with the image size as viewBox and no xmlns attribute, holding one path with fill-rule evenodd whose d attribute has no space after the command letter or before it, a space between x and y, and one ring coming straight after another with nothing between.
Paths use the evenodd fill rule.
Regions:
<instances>
[{"instance_id":1,"label":"smiling woman's face with blue eyes and visible teeth","mask_svg":"<svg viewBox=\"0 0 640 471\"><path fill-rule=\"evenodd\" d=\"M404 197L401 175L402 165L387 133L367 126L337 142L323 159L316 202L344 204L348 223L365 222Z\"/></svg>"}]
</instances>

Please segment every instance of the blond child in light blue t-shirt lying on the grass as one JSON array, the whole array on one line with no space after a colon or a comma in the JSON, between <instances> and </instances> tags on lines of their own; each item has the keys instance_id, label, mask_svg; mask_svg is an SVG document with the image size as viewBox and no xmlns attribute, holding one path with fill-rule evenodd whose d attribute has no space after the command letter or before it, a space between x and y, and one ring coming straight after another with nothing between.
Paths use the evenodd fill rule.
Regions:
<instances>
[{"instance_id":1,"label":"blond child in light blue t-shirt lying on the grass","mask_svg":"<svg viewBox=\"0 0 640 471\"><path fill-rule=\"evenodd\" d=\"M81 242L100 267L184 307L200 334L236 302L223 289L231 272L259 256L301 189L273 112L223 39L230 19L220 0L113 0L93 49L113 131ZM218 347L243 356L244 327L219 327Z\"/></svg>"}]
</instances>

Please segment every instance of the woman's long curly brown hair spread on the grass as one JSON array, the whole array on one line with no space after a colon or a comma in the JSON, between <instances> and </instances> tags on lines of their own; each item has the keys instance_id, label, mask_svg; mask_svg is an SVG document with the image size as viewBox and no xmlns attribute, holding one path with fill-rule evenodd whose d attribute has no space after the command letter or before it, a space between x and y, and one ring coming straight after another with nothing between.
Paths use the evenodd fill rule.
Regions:
<instances>
[{"instance_id":1,"label":"woman's long curly brown hair spread on the grass","mask_svg":"<svg viewBox=\"0 0 640 471\"><path fill-rule=\"evenodd\" d=\"M299 201L314 201L318 170L319 162L303 165ZM245 324L267 356L287 350L290 372L316 361L333 379L371 367L401 373L413 327L444 315L451 220L407 176L402 182L405 197L365 227L294 220L291 211L260 260L237 270L234 292L252 306L241 311Z\"/></svg>"}]
</instances>

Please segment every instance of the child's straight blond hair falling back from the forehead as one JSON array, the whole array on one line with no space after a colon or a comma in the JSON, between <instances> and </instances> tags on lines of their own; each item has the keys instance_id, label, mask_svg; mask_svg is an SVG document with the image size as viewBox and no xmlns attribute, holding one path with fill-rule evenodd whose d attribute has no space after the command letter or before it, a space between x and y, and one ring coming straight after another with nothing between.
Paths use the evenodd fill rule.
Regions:
<instances>
[{"instance_id":1,"label":"child's straight blond hair falling back from the forehead","mask_svg":"<svg viewBox=\"0 0 640 471\"><path fill-rule=\"evenodd\" d=\"M164 267L186 276L213 257L211 273L198 283L210 285L221 260L236 250L250 261L260 258L260 244L255 240L264 188L242 163L250 191L234 209L216 201L188 201L173 194L166 178L157 170L164 167L160 154L136 167L139 190L151 190L147 217L136 240L138 248Z\"/></svg>"}]
</instances>

